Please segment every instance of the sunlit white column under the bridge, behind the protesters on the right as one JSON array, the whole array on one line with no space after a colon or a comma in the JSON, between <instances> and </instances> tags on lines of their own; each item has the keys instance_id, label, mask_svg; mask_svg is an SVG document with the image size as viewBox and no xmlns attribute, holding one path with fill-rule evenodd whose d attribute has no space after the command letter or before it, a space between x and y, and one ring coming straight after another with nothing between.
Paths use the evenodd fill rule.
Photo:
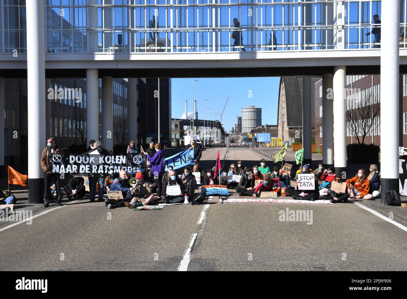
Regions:
<instances>
[{"instance_id":1,"label":"sunlit white column under the bridge, behind the protesters on the right","mask_svg":"<svg viewBox=\"0 0 407 299\"><path fill-rule=\"evenodd\" d=\"M346 66L335 66L333 75L334 143L336 173L346 172ZM322 114L324 117L324 115Z\"/></svg>"}]
</instances>

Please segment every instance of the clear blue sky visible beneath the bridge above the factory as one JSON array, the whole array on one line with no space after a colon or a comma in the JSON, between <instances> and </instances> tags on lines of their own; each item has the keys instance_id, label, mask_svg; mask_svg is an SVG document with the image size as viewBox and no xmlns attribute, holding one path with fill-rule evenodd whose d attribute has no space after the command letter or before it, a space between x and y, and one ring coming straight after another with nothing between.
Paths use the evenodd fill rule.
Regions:
<instances>
[{"instance_id":1,"label":"clear blue sky visible beneath the bridge above the factory","mask_svg":"<svg viewBox=\"0 0 407 299\"><path fill-rule=\"evenodd\" d=\"M193 111L192 106L192 82L195 82L195 100L197 100L197 111L199 119L206 119L210 113L222 112L226 99L229 97L223 113L223 127L230 131L237 124L236 115L241 116L241 109L249 105L266 108L262 113L262 124L276 124L278 88L280 77L258 77L258 78L173 78L171 79L172 117L180 118L185 113L185 101L188 101L188 111ZM249 90L252 98L248 98ZM220 120L220 116L212 114L212 120Z\"/></svg>"}]
</instances>

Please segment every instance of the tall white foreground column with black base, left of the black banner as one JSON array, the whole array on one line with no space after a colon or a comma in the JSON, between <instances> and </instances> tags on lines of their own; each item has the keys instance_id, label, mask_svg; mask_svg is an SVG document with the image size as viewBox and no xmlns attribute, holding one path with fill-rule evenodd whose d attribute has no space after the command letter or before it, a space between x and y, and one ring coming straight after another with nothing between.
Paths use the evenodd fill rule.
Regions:
<instances>
[{"instance_id":1,"label":"tall white foreground column with black base, left of the black banner","mask_svg":"<svg viewBox=\"0 0 407 299\"><path fill-rule=\"evenodd\" d=\"M44 171L40 159L45 136L45 33L44 1L31 0L27 11L27 88L28 88L28 203L42 203Z\"/></svg>"}]
</instances>

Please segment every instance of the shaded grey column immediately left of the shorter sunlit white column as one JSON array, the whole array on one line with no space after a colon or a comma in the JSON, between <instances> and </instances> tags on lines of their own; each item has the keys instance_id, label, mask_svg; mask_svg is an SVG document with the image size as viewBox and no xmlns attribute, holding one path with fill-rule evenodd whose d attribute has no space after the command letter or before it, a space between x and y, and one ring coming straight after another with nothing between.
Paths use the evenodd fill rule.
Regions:
<instances>
[{"instance_id":1,"label":"shaded grey column immediately left of the shorter sunlit white column","mask_svg":"<svg viewBox=\"0 0 407 299\"><path fill-rule=\"evenodd\" d=\"M333 74L322 76L322 161L326 167L333 166Z\"/></svg>"}]
</instances>

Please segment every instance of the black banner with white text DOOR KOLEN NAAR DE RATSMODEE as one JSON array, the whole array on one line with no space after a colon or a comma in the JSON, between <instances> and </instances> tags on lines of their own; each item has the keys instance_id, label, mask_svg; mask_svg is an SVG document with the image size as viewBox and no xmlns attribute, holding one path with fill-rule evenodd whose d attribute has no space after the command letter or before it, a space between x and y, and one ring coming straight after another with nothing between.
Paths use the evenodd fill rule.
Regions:
<instances>
[{"instance_id":1,"label":"black banner with white text DOOR KOLEN NAAR DE RATSMODEE","mask_svg":"<svg viewBox=\"0 0 407 299\"><path fill-rule=\"evenodd\" d=\"M146 167L146 158L143 154L128 153L119 155L61 155L51 154L50 165L52 172L81 173L81 174L108 174L140 171Z\"/></svg>"}]
</instances>

